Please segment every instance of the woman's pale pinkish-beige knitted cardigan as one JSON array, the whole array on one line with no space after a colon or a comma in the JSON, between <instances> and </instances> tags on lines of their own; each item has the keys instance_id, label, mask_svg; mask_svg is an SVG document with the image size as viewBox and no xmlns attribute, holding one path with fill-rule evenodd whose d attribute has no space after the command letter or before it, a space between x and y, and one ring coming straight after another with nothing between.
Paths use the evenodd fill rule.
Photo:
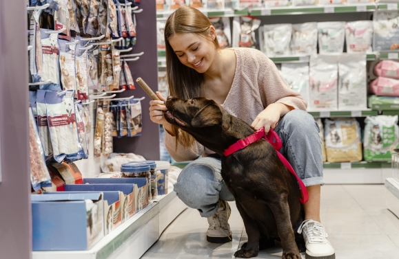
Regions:
<instances>
[{"instance_id":1,"label":"woman's pale pinkish-beige knitted cardigan","mask_svg":"<svg viewBox=\"0 0 399 259\"><path fill-rule=\"evenodd\" d=\"M233 85L222 104L230 115L239 117L248 124L267 105L280 102L306 111L307 103L297 91L292 90L280 76L276 65L257 49L234 48L237 57ZM176 161L191 161L200 155L214 153L198 142L184 148L181 144L176 150L175 137L165 131L165 146Z\"/></svg>"}]
</instances>

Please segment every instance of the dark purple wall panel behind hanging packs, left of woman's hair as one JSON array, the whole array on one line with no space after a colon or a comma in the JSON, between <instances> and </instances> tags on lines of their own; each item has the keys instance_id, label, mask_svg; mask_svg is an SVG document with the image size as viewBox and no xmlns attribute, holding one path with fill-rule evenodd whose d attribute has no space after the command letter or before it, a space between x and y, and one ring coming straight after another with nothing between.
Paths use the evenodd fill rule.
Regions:
<instances>
[{"instance_id":1,"label":"dark purple wall panel behind hanging packs, left of woman's hair","mask_svg":"<svg viewBox=\"0 0 399 259\"><path fill-rule=\"evenodd\" d=\"M136 83L138 77L149 85L153 91L158 90L158 61L156 51L156 10L155 1L141 1L143 12L136 14L137 44L129 54L144 52L136 61L128 61L136 86L135 90L125 91L119 97L134 95L135 98L145 96L141 102L143 109L143 132L139 137L114 139L114 152L135 153L145 159L159 160L159 126L150 120L150 97ZM127 54L127 53L122 53Z\"/></svg>"}]
</instances>

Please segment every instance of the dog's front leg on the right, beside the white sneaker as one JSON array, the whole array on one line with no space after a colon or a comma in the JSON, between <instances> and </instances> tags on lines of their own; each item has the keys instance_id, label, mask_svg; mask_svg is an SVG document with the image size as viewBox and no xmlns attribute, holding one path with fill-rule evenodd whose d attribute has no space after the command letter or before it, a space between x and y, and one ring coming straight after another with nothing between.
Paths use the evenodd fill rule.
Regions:
<instances>
[{"instance_id":1,"label":"dog's front leg on the right, beside the white sneaker","mask_svg":"<svg viewBox=\"0 0 399 259\"><path fill-rule=\"evenodd\" d=\"M281 246L283 247L283 259L300 259L298 247L295 243L294 230L289 216L289 206L287 194L283 193L269 203L269 207L276 218L278 236L280 236Z\"/></svg>"}]
</instances>

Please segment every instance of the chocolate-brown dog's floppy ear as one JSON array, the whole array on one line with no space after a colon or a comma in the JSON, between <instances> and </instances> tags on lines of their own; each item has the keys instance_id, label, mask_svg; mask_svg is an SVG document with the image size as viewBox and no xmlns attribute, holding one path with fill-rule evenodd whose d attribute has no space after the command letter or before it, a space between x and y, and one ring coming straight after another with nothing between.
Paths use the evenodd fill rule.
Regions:
<instances>
[{"instance_id":1,"label":"chocolate-brown dog's floppy ear","mask_svg":"<svg viewBox=\"0 0 399 259\"><path fill-rule=\"evenodd\" d=\"M192 118L191 125L193 127L206 127L221 124L223 113L217 104L209 104L202 110L198 111Z\"/></svg>"}]
</instances>

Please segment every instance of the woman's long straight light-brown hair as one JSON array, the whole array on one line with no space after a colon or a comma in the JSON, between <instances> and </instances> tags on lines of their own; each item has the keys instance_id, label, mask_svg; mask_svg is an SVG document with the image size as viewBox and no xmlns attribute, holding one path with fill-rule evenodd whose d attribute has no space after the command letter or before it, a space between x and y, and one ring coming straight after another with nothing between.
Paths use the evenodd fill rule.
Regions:
<instances>
[{"instance_id":1,"label":"woman's long straight light-brown hair","mask_svg":"<svg viewBox=\"0 0 399 259\"><path fill-rule=\"evenodd\" d=\"M209 37L211 21L202 12L188 6L181 6L173 12L165 24L165 54L167 83L170 95L184 100L204 95L204 76L194 69L183 65L170 46L169 40L175 34L195 33L209 41L212 41L216 49L220 49L218 38ZM172 125L176 136L176 148L180 143L183 146L194 144L194 138L184 131Z\"/></svg>"}]
</instances>

